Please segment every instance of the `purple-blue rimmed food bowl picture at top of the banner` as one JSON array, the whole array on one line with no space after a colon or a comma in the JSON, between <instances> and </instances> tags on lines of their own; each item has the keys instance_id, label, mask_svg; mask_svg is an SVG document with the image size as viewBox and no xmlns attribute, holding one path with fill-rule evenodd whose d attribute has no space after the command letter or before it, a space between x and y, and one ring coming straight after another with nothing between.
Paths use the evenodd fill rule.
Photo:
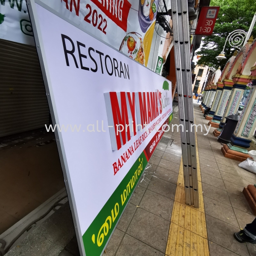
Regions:
<instances>
[{"instance_id":1,"label":"purple-blue rimmed food bowl picture at top of the banner","mask_svg":"<svg viewBox=\"0 0 256 256\"><path fill-rule=\"evenodd\" d=\"M139 23L141 30L145 33L157 15L158 0L139 0Z\"/></svg>"}]
</instances>

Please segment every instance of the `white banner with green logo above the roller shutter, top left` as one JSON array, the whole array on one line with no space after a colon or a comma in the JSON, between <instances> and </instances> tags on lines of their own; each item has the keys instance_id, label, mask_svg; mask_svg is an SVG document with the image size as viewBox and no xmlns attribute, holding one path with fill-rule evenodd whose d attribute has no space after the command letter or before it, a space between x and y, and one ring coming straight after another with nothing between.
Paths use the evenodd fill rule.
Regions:
<instances>
[{"instance_id":1,"label":"white banner with green logo above the roller shutter, top left","mask_svg":"<svg viewBox=\"0 0 256 256\"><path fill-rule=\"evenodd\" d=\"M0 0L0 38L35 45L25 0Z\"/></svg>"}]
</instances>

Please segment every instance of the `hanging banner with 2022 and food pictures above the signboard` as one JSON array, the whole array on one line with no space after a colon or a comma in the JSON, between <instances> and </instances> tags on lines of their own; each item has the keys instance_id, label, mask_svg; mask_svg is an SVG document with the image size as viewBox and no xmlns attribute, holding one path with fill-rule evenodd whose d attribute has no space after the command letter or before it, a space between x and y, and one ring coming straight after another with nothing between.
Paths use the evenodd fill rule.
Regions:
<instances>
[{"instance_id":1,"label":"hanging banner with 2022 and food pictures above the signboard","mask_svg":"<svg viewBox=\"0 0 256 256\"><path fill-rule=\"evenodd\" d=\"M41 2L78 24L85 32L147 66L159 0Z\"/></svg>"}]
</instances>

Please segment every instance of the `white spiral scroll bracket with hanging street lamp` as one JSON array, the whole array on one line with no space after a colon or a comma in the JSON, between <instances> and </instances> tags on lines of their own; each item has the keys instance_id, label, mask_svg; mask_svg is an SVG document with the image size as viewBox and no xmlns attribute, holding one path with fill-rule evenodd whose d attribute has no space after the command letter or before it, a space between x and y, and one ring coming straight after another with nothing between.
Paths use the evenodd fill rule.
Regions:
<instances>
[{"instance_id":1,"label":"white spiral scroll bracket with hanging street lamp","mask_svg":"<svg viewBox=\"0 0 256 256\"><path fill-rule=\"evenodd\" d=\"M236 48L238 50L241 49L242 44L244 42L244 38L246 38L247 33L244 30L236 29L233 32L229 33L227 36L226 42L224 44L222 52L216 57L217 60L221 61L226 59L224 49L226 47L227 41L231 47Z\"/></svg>"}]
</instances>

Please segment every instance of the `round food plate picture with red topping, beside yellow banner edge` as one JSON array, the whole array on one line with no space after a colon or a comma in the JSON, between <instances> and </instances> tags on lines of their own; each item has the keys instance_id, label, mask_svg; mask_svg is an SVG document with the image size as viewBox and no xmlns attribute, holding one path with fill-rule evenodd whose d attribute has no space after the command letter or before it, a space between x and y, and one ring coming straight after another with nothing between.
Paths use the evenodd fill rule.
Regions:
<instances>
[{"instance_id":1,"label":"round food plate picture with red topping, beside yellow banner edge","mask_svg":"<svg viewBox=\"0 0 256 256\"><path fill-rule=\"evenodd\" d=\"M119 51L144 64L143 40L142 36L137 32L129 32L122 40Z\"/></svg>"}]
</instances>

